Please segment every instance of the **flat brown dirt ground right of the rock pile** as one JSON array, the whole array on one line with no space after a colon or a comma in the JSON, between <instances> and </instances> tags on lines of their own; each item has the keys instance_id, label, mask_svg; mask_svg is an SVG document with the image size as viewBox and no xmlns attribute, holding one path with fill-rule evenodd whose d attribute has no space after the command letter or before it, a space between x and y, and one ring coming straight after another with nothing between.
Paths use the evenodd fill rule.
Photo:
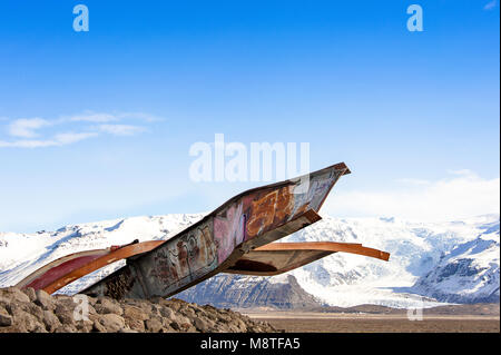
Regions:
<instances>
[{"instance_id":1,"label":"flat brown dirt ground right of the rock pile","mask_svg":"<svg viewBox=\"0 0 501 355\"><path fill-rule=\"evenodd\" d=\"M424 316L409 321L403 315L247 314L292 333L499 333L499 316Z\"/></svg>"}]
</instances>

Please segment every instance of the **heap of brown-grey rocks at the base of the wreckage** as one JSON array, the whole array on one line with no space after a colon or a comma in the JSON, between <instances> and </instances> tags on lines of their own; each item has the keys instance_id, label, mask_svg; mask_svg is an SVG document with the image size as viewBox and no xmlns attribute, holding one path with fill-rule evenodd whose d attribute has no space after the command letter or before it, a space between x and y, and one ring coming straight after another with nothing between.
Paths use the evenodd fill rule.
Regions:
<instances>
[{"instance_id":1,"label":"heap of brown-grey rocks at the base of the wreckage","mask_svg":"<svg viewBox=\"0 0 501 355\"><path fill-rule=\"evenodd\" d=\"M88 297L88 319L79 319L82 304L43 290L0 288L0 333L269 333L277 332L230 309L198 306L180 299ZM76 312L77 310L77 312Z\"/></svg>"}]
</instances>

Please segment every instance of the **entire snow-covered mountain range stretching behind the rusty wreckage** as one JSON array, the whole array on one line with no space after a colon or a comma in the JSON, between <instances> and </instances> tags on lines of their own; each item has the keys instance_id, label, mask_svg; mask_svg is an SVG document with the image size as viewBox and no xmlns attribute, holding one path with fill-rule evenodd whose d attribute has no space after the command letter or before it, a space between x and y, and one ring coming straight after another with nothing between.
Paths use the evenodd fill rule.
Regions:
<instances>
[{"instance_id":1,"label":"entire snow-covered mountain range stretching behind the rusty wreckage","mask_svg":"<svg viewBox=\"0 0 501 355\"><path fill-rule=\"evenodd\" d=\"M127 244L134 239L168 239L202 217L202 214L132 217L72 225L57 231L0 233L0 286L13 285L38 267L70 253ZM286 276L243 276L230 283L223 283L222 278L208 279L180 294L180 297L198 295L198 302L210 303L210 295L214 294L215 299L218 297L216 293L220 292L216 283L223 283L226 285L225 293L239 297L243 293L232 293L232 287L245 284L252 289L250 285L254 285L259 289L261 297L266 299L266 289L273 289L276 294L277 285L296 280L320 303L335 306L379 304L428 307L440 302L499 302L499 215L448 223L324 216L323 220L281 241L317 240L362 243L390 252L390 262L338 253L292 270ZM61 292L78 292L122 265L124 262L110 265ZM200 300L202 294L204 297ZM292 295L291 299L304 297ZM255 297L253 299L256 302ZM235 299L235 303L245 306L242 299Z\"/></svg>"}]
</instances>

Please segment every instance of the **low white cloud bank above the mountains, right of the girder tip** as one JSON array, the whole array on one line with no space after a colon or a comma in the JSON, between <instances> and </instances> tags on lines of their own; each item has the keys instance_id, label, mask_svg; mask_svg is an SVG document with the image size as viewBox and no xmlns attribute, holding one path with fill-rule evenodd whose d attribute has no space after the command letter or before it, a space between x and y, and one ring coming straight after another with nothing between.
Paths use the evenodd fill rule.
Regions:
<instances>
[{"instance_id":1,"label":"low white cloud bank above the mountains, right of the girder tip","mask_svg":"<svg viewBox=\"0 0 501 355\"><path fill-rule=\"evenodd\" d=\"M426 221L499 213L500 178L484 179L470 170L455 172L461 174L404 188L395 186L393 190L335 191L324 210L342 217L394 216Z\"/></svg>"}]
</instances>

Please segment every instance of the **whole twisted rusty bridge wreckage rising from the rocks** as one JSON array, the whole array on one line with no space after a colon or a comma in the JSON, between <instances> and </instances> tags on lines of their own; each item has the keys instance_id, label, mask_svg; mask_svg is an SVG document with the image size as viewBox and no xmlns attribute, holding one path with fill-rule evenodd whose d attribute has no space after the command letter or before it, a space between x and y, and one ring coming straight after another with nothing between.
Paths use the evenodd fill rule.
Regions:
<instances>
[{"instance_id":1,"label":"whole twisted rusty bridge wreckage rising from the rocks","mask_svg":"<svg viewBox=\"0 0 501 355\"><path fill-rule=\"evenodd\" d=\"M318 210L344 162L242 193L167 240L150 240L61 257L17 286L55 293L104 266L126 266L80 293L112 298L168 297L216 274L271 276L337 252L389 260L390 254L352 243L273 243L322 217ZM306 180L306 183L304 181Z\"/></svg>"}]
</instances>

